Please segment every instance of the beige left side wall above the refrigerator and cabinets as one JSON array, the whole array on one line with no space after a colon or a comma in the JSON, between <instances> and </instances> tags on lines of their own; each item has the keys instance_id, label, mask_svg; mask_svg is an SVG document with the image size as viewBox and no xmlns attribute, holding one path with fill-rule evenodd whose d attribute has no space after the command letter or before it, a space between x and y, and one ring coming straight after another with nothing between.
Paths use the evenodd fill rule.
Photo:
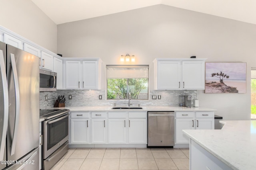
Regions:
<instances>
[{"instance_id":1,"label":"beige left side wall above the refrigerator and cabinets","mask_svg":"<svg viewBox=\"0 0 256 170\"><path fill-rule=\"evenodd\" d=\"M57 25L31 0L1 0L0 25L56 53Z\"/></svg>"}]
</instances>

